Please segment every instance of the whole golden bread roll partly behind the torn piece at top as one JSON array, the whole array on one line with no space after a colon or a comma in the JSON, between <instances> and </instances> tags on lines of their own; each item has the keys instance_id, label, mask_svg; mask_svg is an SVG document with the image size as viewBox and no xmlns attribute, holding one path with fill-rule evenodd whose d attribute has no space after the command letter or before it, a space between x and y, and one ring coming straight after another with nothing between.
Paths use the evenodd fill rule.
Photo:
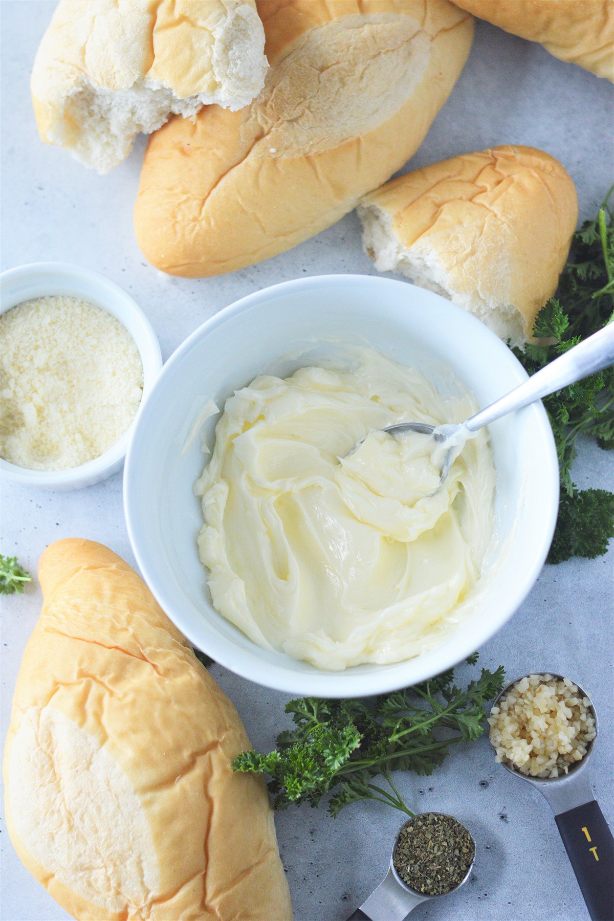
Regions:
<instances>
[{"instance_id":1,"label":"whole golden bread roll partly behind the torn piece at top","mask_svg":"<svg viewBox=\"0 0 614 921\"><path fill-rule=\"evenodd\" d=\"M469 53L447 0L260 0L260 97L149 142L134 224L146 258L232 272L334 224L411 157Z\"/></svg>"}]
</instances>

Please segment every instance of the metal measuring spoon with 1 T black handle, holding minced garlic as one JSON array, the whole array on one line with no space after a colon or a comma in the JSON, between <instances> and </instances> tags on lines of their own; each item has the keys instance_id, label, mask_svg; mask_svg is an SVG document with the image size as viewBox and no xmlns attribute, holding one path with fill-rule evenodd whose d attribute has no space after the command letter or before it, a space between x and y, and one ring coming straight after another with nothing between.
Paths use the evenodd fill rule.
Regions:
<instances>
[{"instance_id":1,"label":"metal measuring spoon with 1 T black handle, holding minced garlic","mask_svg":"<svg viewBox=\"0 0 614 921\"><path fill-rule=\"evenodd\" d=\"M563 680L563 676L555 671L532 671L531 674L539 677L548 674ZM523 675L509 682L492 706L498 706L510 688L524 677L529 676ZM588 708L595 719L595 739L588 743L584 758L575 762L567 774L558 777L531 777L521 774L514 764L504 761L501 764L510 774L537 787L548 800L588 914L593 921L610 921L614 917L614 838L593 795L588 772L588 762L597 741L597 713L584 688L577 682L573 684L578 689L578 696L588 700ZM492 748L494 751L494 746Z\"/></svg>"}]
</instances>

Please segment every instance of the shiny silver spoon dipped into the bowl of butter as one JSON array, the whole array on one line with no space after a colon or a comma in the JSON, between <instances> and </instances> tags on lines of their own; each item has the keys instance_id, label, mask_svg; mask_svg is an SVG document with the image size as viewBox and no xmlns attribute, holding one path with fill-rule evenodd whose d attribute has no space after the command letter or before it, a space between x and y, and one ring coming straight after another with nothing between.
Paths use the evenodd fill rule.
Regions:
<instances>
[{"instance_id":1,"label":"shiny silver spoon dipped into the bowl of butter","mask_svg":"<svg viewBox=\"0 0 614 921\"><path fill-rule=\"evenodd\" d=\"M384 431L395 437L406 435L408 432L432 435L434 440L441 445L437 451L442 458L439 482L439 488L441 488L465 442L480 428L489 426L502 415L522 409L529 403L547 397L550 393L559 391L562 387L575 383L576 380L596 374L597 371L610 365L614 365L614 322L594 332L583 342L573 345L573 348L570 348L564 355L555 358L523 384L506 393L499 400L495 400L479 413L472 415L465 422L443 426L427 426L422 422L401 422L395 426L388 426Z\"/></svg>"}]
</instances>

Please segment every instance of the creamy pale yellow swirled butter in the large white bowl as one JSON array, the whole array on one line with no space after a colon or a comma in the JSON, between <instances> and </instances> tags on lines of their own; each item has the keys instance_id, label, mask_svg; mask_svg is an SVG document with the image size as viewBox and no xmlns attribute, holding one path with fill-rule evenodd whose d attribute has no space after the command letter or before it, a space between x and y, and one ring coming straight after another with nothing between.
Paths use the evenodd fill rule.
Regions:
<instances>
[{"instance_id":1,"label":"creamy pale yellow swirled butter in the large white bowl","mask_svg":"<svg viewBox=\"0 0 614 921\"><path fill-rule=\"evenodd\" d=\"M195 484L214 607L255 643L320 669L409 659L442 641L493 531L484 432L435 495L433 439L381 431L475 412L371 349L348 367L262 376L227 400ZM357 447L356 447L357 446Z\"/></svg>"}]
</instances>

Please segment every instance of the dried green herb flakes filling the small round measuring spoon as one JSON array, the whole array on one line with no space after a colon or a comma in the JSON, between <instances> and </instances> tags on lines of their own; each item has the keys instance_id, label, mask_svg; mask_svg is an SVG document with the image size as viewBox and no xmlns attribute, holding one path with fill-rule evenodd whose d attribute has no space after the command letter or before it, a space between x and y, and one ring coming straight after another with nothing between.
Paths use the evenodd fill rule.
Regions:
<instances>
[{"instance_id":1,"label":"dried green herb flakes filling the small round measuring spoon","mask_svg":"<svg viewBox=\"0 0 614 921\"><path fill-rule=\"evenodd\" d=\"M445 895L465 879L475 857L468 830L451 815L423 812L400 830L393 863L400 879L422 895Z\"/></svg>"}]
</instances>

